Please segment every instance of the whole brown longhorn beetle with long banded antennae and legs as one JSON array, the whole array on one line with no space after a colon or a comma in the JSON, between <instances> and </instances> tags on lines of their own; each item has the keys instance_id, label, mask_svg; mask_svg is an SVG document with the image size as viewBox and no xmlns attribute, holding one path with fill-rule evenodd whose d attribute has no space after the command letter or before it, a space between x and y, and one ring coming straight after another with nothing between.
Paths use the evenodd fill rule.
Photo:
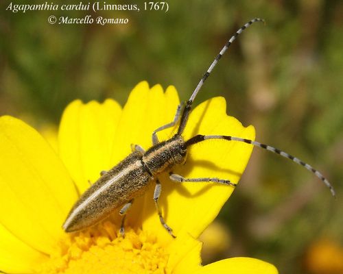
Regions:
<instances>
[{"instance_id":1,"label":"whole brown longhorn beetle with long banded antennae and legs","mask_svg":"<svg viewBox=\"0 0 343 274\"><path fill-rule=\"evenodd\" d=\"M331 194L335 197L335 190L329 183L329 181L316 169L314 169L309 164L303 162L302 160L271 147L270 145L264 145L260 142L255 142L253 140L247 140L244 138L239 138L235 136L221 136L221 135L196 135L190 138L189 140L184 140L182 138L182 132L184 132L185 127L187 126L187 121L189 119L189 114L191 113L192 104L196 95L202 85L209 77L211 71L217 64L217 62L222 58L222 55L230 47L231 43L244 31L247 27L252 25L255 22L264 22L261 18L254 18L243 27L237 30L237 32L226 42L223 49L217 55L215 60L212 62L209 69L200 79L200 82L196 89L193 91L193 94L189 100L185 103L180 103L178 109L176 110L176 115L174 121L158 127L154 132L152 132L152 147L144 151L139 145L132 145L132 153L128 155L124 160L119 162L117 166L114 166L109 171L102 171L101 177L93 184L80 199L75 203L69 215L67 216L66 221L64 222L63 228L66 232L76 232L81 229L85 229L92 225L95 225L102 219L105 219L113 210L121 208L119 214L123 215L121 221L120 232L124 235L124 220L126 217L126 212L132 205L132 201L135 197L142 195L147 186L152 182L156 182L154 190L154 203L156 206L156 211L158 213L161 224L167 232L173 237L171 227L165 223L163 215L158 206L158 198L161 195L161 183L158 182L156 178L157 175L161 173L169 172L169 178L174 182L213 182L217 184L225 184L228 186L235 187L237 184L230 182L228 179L218 179L218 178L184 178L181 175L172 173L172 169L177 164L183 164L187 158L187 149L191 145L195 145L198 142L203 142L209 139L224 139L228 141L235 142L246 142L247 144L254 145L256 147L261 147L268 151L277 153L285 158L296 162L304 166L305 169L308 169L314 175L319 177L322 182L331 190ZM177 123L178 132L171 137L169 140L159 142L156 133L160 132L163 129L169 127L174 127Z\"/></svg>"}]
</instances>

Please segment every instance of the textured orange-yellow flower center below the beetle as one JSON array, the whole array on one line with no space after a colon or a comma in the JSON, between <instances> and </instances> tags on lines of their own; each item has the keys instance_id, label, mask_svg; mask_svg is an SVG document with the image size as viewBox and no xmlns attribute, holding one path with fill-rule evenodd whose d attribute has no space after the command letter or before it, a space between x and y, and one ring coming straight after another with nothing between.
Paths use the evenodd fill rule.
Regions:
<instances>
[{"instance_id":1,"label":"textured orange-yellow flower center below the beetle","mask_svg":"<svg viewBox=\"0 0 343 274\"><path fill-rule=\"evenodd\" d=\"M168 255L156 237L129 228L125 238L117 232L107 221L68 236L37 273L167 273Z\"/></svg>"}]
</instances>

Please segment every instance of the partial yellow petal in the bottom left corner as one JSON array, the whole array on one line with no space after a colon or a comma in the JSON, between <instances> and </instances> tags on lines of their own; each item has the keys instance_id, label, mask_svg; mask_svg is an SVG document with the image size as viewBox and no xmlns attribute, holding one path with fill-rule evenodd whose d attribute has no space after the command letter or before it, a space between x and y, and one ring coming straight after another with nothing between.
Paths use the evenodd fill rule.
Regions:
<instances>
[{"instance_id":1,"label":"partial yellow petal in the bottom left corner","mask_svg":"<svg viewBox=\"0 0 343 274\"><path fill-rule=\"evenodd\" d=\"M47 256L13 236L1 224L0 238L0 271L33 273L38 264L47 260Z\"/></svg>"}]
</instances>

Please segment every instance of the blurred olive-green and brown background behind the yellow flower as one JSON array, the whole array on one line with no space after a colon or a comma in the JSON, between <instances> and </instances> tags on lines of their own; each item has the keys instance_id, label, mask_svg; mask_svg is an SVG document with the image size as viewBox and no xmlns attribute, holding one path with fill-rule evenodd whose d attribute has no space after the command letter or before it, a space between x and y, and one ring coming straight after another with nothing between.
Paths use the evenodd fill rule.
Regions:
<instances>
[{"instance_id":1,"label":"blurred olive-green and brown background behind the yellow flower","mask_svg":"<svg viewBox=\"0 0 343 274\"><path fill-rule=\"evenodd\" d=\"M309 172L255 149L218 217L228 243L204 254L204 264L251 256L280 273L343 273L342 1L169 1L167 13L99 14L12 13L5 11L9 3L0 3L0 114L38 129L57 126L73 99L123 104L143 79L173 84L187 100L233 32L265 18L265 26L257 23L235 41L196 103L226 97L228 113L255 125L257 140L318 167L338 199ZM115 14L130 22L50 25L51 14Z\"/></svg>"}]
</instances>

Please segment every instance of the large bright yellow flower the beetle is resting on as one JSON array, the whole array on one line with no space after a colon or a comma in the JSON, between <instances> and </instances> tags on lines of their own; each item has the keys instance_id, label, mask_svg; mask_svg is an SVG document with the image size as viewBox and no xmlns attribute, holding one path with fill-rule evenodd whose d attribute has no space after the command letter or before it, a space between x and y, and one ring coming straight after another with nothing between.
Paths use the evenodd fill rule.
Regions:
<instances>
[{"instance_id":1,"label":"large bright yellow flower the beetle is resting on","mask_svg":"<svg viewBox=\"0 0 343 274\"><path fill-rule=\"evenodd\" d=\"M151 146L154 129L174 118L179 103L174 87L146 82L132 90L122 109L113 100L103 104L74 101L64 111L58 132L58 155L32 127L10 116L0 119L0 270L5 273L277 273L274 266L252 258L231 258L201 266L196 240L215 219L233 192L217 184L176 184L161 179L161 208L176 239L159 223L153 187L135 199L128 212L126 237L119 216L74 234L62 223L80 193L131 151L131 144ZM169 138L175 129L158 134ZM255 138L226 115L223 98L200 104L183 136L230 134ZM209 140L189 149L185 177L220 177L238 182L252 147Z\"/></svg>"}]
</instances>

